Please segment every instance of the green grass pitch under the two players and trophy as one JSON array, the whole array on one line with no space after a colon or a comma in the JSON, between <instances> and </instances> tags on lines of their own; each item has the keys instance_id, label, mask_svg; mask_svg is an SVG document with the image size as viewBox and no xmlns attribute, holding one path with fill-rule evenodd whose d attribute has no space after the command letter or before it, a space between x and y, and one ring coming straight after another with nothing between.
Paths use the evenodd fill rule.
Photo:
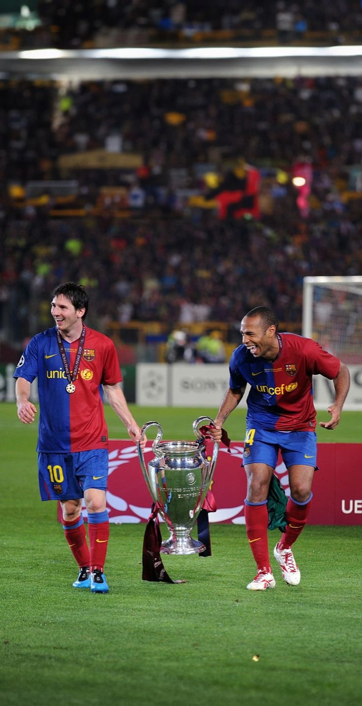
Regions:
<instances>
[{"instance_id":1,"label":"green grass pitch under the two players and trophy","mask_svg":"<svg viewBox=\"0 0 362 706\"><path fill-rule=\"evenodd\" d=\"M134 407L164 438L193 438L213 409ZM327 419L320 412L318 419ZM109 434L126 438L107 408ZM241 441L244 413L227 431ZM344 412L318 441L358 441L361 414ZM37 490L36 426L0 405L0 693L4 706L359 706L361 527L306 527L302 580L248 592L245 527L211 525L212 556L164 557L181 585L143 582L145 525L111 525L108 595L71 587L76 566ZM346 469L346 472L348 469ZM279 533L270 533L270 549ZM253 659L255 655L258 659Z\"/></svg>"}]
</instances>

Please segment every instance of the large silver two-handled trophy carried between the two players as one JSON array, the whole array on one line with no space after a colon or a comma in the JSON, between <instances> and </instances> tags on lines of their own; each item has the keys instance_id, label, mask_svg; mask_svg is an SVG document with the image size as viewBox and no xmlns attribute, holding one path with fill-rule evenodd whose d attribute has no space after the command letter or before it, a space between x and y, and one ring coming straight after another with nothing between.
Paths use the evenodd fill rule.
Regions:
<instances>
[{"instance_id":1,"label":"large silver two-handled trophy carried between the two players","mask_svg":"<svg viewBox=\"0 0 362 706\"><path fill-rule=\"evenodd\" d=\"M159 503L159 513L169 528L170 537L162 542L162 554L200 554L202 542L190 536L214 474L219 444L214 443L212 457L206 457L206 441L198 427L212 422L210 417L198 417L193 422L196 441L162 441L162 426L147 421L141 429L142 441L150 426L158 427L152 444L155 458L145 464L143 449L138 443L138 457L152 500Z\"/></svg>"}]
</instances>

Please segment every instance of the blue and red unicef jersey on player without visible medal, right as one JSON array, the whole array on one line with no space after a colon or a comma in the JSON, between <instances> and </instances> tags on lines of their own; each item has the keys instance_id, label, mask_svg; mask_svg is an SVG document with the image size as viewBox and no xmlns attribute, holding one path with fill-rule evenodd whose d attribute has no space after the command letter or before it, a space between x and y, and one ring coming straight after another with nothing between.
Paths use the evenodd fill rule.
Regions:
<instances>
[{"instance_id":1,"label":"blue and red unicef jersey on player without visible medal, right","mask_svg":"<svg viewBox=\"0 0 362 706\"><path fill-rule=\"evenodd\" d=\"M340 361L319 343L294 333L280 333L274 361L254 358L246 345L231 354L231 390L251 385L246 400L248 429L314 431L313 375L333 380Z\"/></svg>"}]
</instances>

